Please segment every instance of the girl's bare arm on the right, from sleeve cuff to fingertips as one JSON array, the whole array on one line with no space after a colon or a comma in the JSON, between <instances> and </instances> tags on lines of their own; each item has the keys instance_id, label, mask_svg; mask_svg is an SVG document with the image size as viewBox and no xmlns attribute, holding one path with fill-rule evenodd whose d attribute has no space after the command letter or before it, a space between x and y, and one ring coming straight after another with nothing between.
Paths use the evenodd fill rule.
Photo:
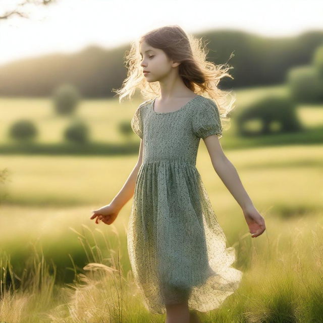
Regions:
<instances>
[{"instance_id":1,"label":"girl's bare arm on the right, from sleeve cuff to fingertips","mask_svg":"<svg viewBox=\"0 0 323 323\"><path fill-rule=\"evenodd\" d=\"M236 168L224 154L218 136L210 135L203 140L214 170L242 208L251 237L260 236L265 230L265 221L244 189Z\"/></svg>"}]
</instances>

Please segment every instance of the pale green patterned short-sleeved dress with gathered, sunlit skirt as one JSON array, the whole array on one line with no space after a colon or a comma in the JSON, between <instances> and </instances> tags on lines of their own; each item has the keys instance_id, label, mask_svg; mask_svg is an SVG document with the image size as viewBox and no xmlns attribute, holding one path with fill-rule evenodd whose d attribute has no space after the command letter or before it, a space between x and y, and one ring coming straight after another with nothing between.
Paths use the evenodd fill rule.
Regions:
<instances>
[{"instance_id":1,"label":"pale green patterned short-sleeved dress with gathered, sunlit skirt","mask_svg":"<svg viewBox=\"0 0 323 323\"><path fill-rule=\"evenodd\" d=\"M200 138L223 136L221 119L202 95L166 113L155 112L154 101L141 103L131 120L143 139L127 230L132 272L150 312L164 314L166 304L183 301L206 312L242 278L195 167Z\"/></svg>"}]
</instances>

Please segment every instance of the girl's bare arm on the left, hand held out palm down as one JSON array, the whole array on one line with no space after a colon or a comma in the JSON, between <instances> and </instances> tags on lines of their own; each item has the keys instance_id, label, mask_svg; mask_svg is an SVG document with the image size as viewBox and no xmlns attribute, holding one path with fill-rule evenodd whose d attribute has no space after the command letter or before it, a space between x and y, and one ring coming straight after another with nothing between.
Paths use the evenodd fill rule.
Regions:
<instances>
[{"instance_id":1,"label":"girl's bare arm on the left, hand held out palm down","mask_svg":"<svg viewBox=\"0 0 323 323\"><path fill-rule=\"evenodd\" d=\"M102 220L105 224L112 224L116 220L123 206L131 199L134 194L138 171L142 164L142 155L143 140L141 139L137 163L128 176L121 190L110 202L110 204L104 205L96 210L92 210L94 214L92 214L90 219L92 220L96 218L95 223L98 223L99 220Z\"/></svg>"}]
</instances>

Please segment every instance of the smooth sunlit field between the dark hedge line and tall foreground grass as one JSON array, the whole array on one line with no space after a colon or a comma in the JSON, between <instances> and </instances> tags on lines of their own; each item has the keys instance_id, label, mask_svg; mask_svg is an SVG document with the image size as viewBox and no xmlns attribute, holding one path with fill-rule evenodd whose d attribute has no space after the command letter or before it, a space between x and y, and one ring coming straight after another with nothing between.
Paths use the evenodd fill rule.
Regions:
<instances>
[{"instance_id":1,"label":"smooth sunlit field between the dark hedge line and tall foreground grass","mask_svg":"<svg viewBox=\"0 0 323 323\"><path fill-rule=\"evenodd\" d=\"M226 153L259 212L265 218L290 221L318 214L322 209L322 154L321 145ZM26 241L39 239L46 255L57 260L61 270L70 261L66 248L77 253L78 262L82 263L84 256L80 255L77 241L71 238L69 227L96 227L89 220L91 210L113 199L136 161L136 155L3 156L2 168L6 166L11 175L6 185L8 195L0 209L2 247L11 251L20 264L19 259L28 254ZM213 170L204 143L200 145L196 167L228 241L233 244L241 232L248 232L247 226L240 206ZM118 232L126 231L130 208L131 201L114 223ZM122 237L122 249L126 251L126 237ZM130 268L129 263L125 265Z\"/></svg>"}]
</instances>

